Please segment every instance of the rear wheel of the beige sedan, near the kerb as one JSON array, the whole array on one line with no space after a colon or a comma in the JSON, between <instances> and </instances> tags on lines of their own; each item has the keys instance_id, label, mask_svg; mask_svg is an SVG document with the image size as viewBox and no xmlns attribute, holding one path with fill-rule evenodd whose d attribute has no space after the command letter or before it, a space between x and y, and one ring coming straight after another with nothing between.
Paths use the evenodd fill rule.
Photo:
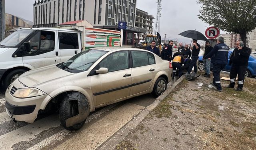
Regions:
<instances>
[{"instance_id":1,"label":"rear wheel of the beige sedan, near the kerb","mask_svg":"<svg viewBox=\"0 0 256 150\"><path fill-rule=\"evenodd\" d=\"M159 89L160 88L160 89ZM167 88L167 82L163 77L160 77L156 80L156 83L154 84L154 88L152 91L152 95L157 98L160 96Z\"/></svg>"}]
</instances>

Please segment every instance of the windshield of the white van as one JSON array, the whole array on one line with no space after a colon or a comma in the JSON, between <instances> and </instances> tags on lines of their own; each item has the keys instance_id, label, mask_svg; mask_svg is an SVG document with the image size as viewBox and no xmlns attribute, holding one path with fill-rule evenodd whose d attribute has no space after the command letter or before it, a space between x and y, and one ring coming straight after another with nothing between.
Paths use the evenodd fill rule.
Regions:
<instances>
[{"instance_id":1,"label":"windshield of the white van","mask_svg":"<svg viewBox=\"0 0 256 150\"><path fill-rule=\"evenodd\" d=\"M17 30L11 35L7 36L4 40L0 42L0 46L2 47L12 47L19 44L24 38L26 38L30 33L34 30Z\"/></svg>"}]
</instances>

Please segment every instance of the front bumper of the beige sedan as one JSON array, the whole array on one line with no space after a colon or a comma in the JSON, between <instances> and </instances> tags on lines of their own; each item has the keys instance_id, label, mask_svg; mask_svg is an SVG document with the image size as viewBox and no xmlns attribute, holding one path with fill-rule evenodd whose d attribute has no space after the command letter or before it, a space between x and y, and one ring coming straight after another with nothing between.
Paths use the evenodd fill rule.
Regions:
<instances>
[{"instance_id":1,"label":"front bumper of the beige sedan","mask_svg":"<svg viewBox=\"0 0 256 150\"><path fill-rule=\"evenodd\" d=\"M16 98L10 93L12 86L5 93L5 107L8 116L16 121L34 122L44 100L51 99L51 97L44 94L30 98Z\"/></svg>"}]
</instances>

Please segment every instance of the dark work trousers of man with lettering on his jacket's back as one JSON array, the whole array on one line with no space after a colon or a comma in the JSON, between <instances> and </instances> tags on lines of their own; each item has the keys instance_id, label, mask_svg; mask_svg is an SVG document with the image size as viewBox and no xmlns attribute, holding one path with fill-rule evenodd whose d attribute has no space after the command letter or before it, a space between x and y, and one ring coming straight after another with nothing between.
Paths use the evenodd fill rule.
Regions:
<instances>
[{"instance_id":1,"label":"dark work trousers of man with lettering on his jacket's back","mask_svg":"<svg viewBox=\"0 0 256 150\"><path fill-rule=\"evenodd\" d=\"M212 84L216 86L218 90L222 90L220 85L220 71L226 66L226 64L213 64L212 68Z\"/></svg>"}]
</instances>

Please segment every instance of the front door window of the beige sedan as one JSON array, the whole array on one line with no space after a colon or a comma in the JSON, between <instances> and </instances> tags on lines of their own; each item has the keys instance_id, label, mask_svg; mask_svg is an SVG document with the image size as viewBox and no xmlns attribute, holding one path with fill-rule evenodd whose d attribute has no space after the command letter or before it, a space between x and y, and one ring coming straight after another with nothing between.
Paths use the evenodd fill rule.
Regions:
<instances>
[{"instance_id":1,"label":"front door window of the beige sedan","mask_svg":"<svg viewBox=\"0 0 256 150\"><path fill-rule=\"evenodd\" d=\"M108 72L129 68L128 51L115 52L108 55L99 64L99 68L108 68Z\"/></svg>"}]
</instances>

